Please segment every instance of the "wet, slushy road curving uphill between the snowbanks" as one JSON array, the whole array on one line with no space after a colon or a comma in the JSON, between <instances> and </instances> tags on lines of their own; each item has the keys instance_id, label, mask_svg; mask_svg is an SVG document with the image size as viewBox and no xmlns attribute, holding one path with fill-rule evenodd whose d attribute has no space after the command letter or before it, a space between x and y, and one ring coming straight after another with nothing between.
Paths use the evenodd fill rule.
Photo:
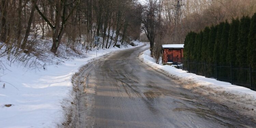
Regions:
<instances>
[{"instance_id":1,"label":"wet, slushy road curving uphill between the snowbanks","mask_svg":"<svg viewBox=\"0 0 256 128\"><path fill-rule=\"evenodd\" d=\"M255 127L250 118L191 93L142 63L147 46L116 52L80 74L78 127Z\"/></svg>"}]
</instances>

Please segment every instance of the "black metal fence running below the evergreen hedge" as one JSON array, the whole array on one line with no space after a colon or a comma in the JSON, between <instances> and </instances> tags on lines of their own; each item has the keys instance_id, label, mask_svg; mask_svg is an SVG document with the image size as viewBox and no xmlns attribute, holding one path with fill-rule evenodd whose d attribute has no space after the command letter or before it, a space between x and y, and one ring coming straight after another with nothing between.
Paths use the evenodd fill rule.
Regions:
<instances>
[{"instance_id":1,"label":"black metal fence running below the evergreen hedge","mask_svg":"<svg viewBox=\"0 0 256 128\"><path fill-rule=\"evenodd\" d=\"M217 62L196 62L183 59L182 65L177 68L256 91L256 70L251 66L234 66L232 63L220 65Z\"/></svg>"}]
</instances>

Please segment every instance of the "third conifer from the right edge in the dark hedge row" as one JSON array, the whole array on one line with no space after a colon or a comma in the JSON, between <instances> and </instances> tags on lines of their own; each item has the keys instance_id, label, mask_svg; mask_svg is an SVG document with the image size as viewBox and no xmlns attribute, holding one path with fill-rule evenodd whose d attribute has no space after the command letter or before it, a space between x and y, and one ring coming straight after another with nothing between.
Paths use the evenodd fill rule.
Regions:
<instances>
[{"instance_id":1,"label":"third conifer from the right edge in the dark hedge row","mask_svg":"<svg viewBox=\"0 0 256 128\"><path fill-rule=\"evenodd\" d=\"M239 31L239 19L232 19L230 24L229 37L228 37L228 49L227 49L227 62L236 62L236 50Z\"/></svg>"}]
</instances>

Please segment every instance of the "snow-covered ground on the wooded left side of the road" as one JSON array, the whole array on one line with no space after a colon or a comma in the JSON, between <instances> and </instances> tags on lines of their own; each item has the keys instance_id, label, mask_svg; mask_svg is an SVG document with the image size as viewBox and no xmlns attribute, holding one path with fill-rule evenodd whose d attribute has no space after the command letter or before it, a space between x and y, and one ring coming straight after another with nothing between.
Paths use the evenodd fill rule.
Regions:
<instances>
[{"instance_id":1,"label":"snow-covered ground on the wooded left side of the road","mask_svg":"<svg viewBox=\"0 0 256 128\"><path fill-rule=\"evenodd\" d=\"M138 46L143 45L138 41L133 42ZM61 47L60 51L65 50L65 47ZM133 47L127 45L121 48L100 49L97 58L127 48ZM41 57L48 59L49 63L37 68L24 67L21 62L10 63L6 58L1 58L5 70L0 73L0 128L61 126L67 118L63 108L73 104L72 75L81 66L97 60L96 49L73 58L58 58L52 53ZM42 62L39 60L38 63ZM8 104L11 106L8 107Z\"/></svg>"}]
</instances>

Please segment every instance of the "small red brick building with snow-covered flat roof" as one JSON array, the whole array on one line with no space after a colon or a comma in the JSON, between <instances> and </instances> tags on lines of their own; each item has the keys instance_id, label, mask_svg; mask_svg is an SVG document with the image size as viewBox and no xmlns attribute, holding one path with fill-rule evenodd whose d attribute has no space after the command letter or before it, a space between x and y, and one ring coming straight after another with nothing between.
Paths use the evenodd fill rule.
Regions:
<instances>
[{"instance_id":1,"label":"small red brick building with snow-covered flat roof","mask_svg":"<svg viewBox=\"0 0 256 128\"><path fill-rule=\"evenodd\" d=\"M182 62L184 44L164 44L162 45L163 65L178 65Z\"/></svg>"}]
</instances>

